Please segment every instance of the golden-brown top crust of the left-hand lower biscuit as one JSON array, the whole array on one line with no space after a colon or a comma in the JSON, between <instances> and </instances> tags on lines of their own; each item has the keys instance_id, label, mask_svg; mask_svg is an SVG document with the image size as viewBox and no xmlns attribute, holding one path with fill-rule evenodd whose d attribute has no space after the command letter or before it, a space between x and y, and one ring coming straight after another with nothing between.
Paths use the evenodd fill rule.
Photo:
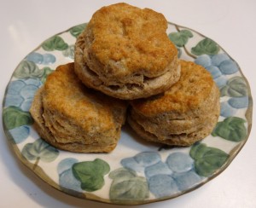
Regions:
<instances>
[{"instance_id":1,"label":"golden-brown top crust of the left-hand lower biscuit","mask_svg":"<svg viewBox=\"0 0 256 208\"><path fill-rule=\"evenodd\" d=\"M84 87L73 70L73 63L69 63L49 74L44 83L44 105L88 132L96 128L99 131L116 128L113 108L123 110L123 102Z\"/></svg>"}]
</instances>

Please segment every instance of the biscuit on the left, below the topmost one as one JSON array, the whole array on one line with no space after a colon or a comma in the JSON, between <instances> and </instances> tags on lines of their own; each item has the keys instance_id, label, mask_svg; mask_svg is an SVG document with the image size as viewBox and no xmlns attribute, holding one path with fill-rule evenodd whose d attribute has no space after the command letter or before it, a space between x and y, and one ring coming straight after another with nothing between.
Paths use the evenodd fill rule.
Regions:
<instances>
[{"instance_id":1,"label":"biscuit on the left, below the topmost one","mask_svg":"<svg viewBox=\"0 0 256 208\"><path fill-rule=\"evenodd\" d=\"M38 90L30 113L39 136L77 153L109 153L116 147L127 104L88 89L73 72L58 66Z\"/></svg>"}]
</instances>

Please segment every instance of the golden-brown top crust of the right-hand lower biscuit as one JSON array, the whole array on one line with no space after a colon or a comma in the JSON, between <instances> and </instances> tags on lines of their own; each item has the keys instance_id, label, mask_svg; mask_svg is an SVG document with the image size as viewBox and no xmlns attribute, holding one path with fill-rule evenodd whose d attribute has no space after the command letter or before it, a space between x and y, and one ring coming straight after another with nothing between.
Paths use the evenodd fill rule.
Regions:
<instances>
[{"instance_id":1,"label":"golden-brown top crust of the right-hand lower biscuit","mask_svg":"<svg viewBox=\"0 0 256 208\"><path fill-rule=\"evenodd\" d=\"M181 77L164 94L131 101L137 113L148 117L160 113L186 113L200 107L212 92L212 75L203 66L180 61Z\"/></svg>"}]
</instances>

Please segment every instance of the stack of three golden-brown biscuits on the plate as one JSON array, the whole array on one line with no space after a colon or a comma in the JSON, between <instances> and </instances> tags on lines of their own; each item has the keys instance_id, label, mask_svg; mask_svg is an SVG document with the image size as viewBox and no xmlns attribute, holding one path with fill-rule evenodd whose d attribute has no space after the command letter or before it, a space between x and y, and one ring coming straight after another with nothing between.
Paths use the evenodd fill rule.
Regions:
<instances>
[{"instance_id":1,"label":"stack of three golden-brown biscuits on the plate","mask_svg":"<svg viewBox=\"0 0 256 208\"><path fill-rule=\"evenodd\" d=\"M189 146L209 135L218 88L205 68L178 60L166 29L152 9L97 10L77 39L74 63L58 66L35 95L38 134L78 153L111 152L126 117L152 142Z\"/></svg>"}]
</instances>

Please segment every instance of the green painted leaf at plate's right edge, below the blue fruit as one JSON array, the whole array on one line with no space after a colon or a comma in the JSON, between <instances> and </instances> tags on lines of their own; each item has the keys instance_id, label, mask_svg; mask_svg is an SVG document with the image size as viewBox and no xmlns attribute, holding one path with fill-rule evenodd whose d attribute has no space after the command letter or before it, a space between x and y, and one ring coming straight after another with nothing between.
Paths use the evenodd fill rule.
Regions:
<instances>
[{"instance_id":1,"label":"green painted leaf at plate's right edge, below the blue fruit","mask_svg":"<svg viewBox=\"0 0 256 208\"><path fill-rule=\"evenodd\" d=\"M242 118L225 118L224 121L216 124L212 136L220 136L232 142L241 142L247 136L247 128L244 123L246 120Z\"/></svg>"}]
</instances>

